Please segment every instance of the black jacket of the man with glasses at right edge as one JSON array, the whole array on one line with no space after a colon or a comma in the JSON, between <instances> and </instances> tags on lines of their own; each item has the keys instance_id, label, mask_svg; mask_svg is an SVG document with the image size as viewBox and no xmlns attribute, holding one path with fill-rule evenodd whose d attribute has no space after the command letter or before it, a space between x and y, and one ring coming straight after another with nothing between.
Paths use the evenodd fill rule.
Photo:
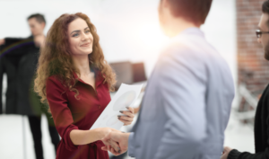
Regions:
<instances>
[{"instance_id":1,"label":"black jacket of the man with glasses at right edge","mask_svg":"<svg viewBox=\"0 0 269 159\"><path fill-rule=\"evenodd\" d=\"M228 159L269 159L269 84L258 102L255 117L255 154L233 149Z\"/></svg>"}]
</instances>

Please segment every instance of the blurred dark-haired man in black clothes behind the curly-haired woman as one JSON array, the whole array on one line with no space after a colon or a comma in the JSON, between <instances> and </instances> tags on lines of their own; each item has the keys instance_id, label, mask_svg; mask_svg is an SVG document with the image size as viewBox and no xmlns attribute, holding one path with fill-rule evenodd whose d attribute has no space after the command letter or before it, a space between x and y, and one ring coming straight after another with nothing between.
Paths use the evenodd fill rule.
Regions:
<instances>
[{"instance_id":1,"label":"blurred dark-haired man in black clothes behind the curly-haired woman","mask_svg":"<svg viewBox=\"0 0 269 159\"><path fill-rule=\"evenodd\" d=\"M43 46L45 40L43 31L46 21L42 14L37 13L28 17L28 23L32 34L29 38L5 38L0 40L0 45L2 44L0 49L2 53L0 54L0 75L6 73L8 77L5 113L28 116L36 158L43 159L40 108L47 115L48 130L55 150L60 138L53 120L48 115L48 106L39 102L38 94L33 91L39 49ZM2 91L2 77L0 82L0 91ZM2 104L0 108L2 111Z\"/></svg>"}]
</instances>

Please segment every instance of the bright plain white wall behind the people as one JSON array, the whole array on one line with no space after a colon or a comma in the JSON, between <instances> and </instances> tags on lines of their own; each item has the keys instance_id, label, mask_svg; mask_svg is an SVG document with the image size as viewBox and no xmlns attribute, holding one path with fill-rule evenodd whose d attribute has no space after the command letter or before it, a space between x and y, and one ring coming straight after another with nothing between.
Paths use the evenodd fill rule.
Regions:
<instances>
[{"instance_id":1,"label":"bright plain white wall behind the people","mask_svg":"<svg viewBox=\"0 0 269 159\"><path fill-rule=\"evenodd\" d=\"M159 27L158 3L159 0L0 0L0 39L29 36L26 18L31 13L45 14L47 32L62 13L82 12L96 25L108 62L144 61L150 75L161 44L167 40ZM235 15L234 0L214 0L202 27L206 38L227 59L233 72Z\"/></svg>"}]
</instances>

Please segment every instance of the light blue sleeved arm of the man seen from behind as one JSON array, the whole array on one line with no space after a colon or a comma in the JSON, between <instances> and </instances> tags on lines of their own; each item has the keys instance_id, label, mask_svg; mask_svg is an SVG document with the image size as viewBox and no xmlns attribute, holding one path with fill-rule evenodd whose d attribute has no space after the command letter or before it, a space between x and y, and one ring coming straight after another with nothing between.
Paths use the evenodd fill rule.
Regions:
<instances>
[{"instance_id":1,"label":"light blue sleeved arm of the man seen from behind","mask_svg":"<svg viewBox=\"0 0 269 159\"><path fill-rule=\"evenodd\" d=\"M207 76L198 58L184 49L160 57L161 100L169 119L154 158L194 158L201 151Z\"/></svg>"}]
</instances>

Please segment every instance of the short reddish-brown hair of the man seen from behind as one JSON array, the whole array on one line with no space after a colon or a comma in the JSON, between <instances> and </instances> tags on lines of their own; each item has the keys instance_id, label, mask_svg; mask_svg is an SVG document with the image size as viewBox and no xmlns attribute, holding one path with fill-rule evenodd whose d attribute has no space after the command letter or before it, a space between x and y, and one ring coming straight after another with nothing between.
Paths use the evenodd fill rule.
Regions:
<instances>
[{"instance_id":1,"label":"short reddish-brown hair of the man seen from behind","mask_svg":"<svg viewBox=\"0 0 269 159\"><path fill-rule=\"evenodd\" d=\"M168 0L171 13L196 25L204 24L213 0Z\"/></svg>"}]
</instances>

